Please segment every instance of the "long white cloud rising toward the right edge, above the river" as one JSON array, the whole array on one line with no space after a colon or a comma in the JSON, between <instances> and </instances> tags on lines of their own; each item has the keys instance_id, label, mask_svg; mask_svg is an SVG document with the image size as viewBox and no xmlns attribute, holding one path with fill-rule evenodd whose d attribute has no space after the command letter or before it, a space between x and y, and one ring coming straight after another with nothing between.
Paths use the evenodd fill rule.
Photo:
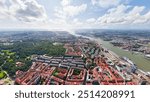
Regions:
<instances>
[{"instance_id":1,"label":"long white cloud rising toward the right edge, above the river","mask_svg":"<svg viewBox=\"0 0 150 102\"><path fill-rule=\"evenodd\" d=\"M105 15L98 18L97 22L101 25L147 23L150 20L150 12L142 14L144 8L143 6L119 5L116 8L109 9Z\"/></svg>"}]
</instances>

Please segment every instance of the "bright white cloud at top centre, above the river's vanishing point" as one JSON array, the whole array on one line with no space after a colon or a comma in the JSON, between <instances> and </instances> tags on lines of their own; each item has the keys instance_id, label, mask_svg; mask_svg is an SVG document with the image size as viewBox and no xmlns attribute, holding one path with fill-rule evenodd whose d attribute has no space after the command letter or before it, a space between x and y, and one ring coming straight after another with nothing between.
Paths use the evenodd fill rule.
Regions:
<instances>
[{"instance_id":1,"label":"bright white cloud at top centre, above the river's vanishing point","mask_svg":"<svg viewBox=\"0 0 150 102\"><path fill-rule=\"evenodd\" d=\"M72 5L73 0L62 0L61 7L55 8L55 19L51 23L61 28L73 28L83 23L75 18L87 9L87 4Z\"/></svg>"}]
</instances>

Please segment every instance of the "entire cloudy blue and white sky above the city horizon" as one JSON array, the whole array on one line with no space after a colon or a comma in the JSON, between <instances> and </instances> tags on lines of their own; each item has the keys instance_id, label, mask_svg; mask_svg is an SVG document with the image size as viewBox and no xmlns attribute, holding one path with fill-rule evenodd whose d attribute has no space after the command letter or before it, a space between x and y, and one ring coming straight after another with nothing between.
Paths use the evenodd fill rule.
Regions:
<instances>
[{"instance_id":1,"label":"entire cloudy blue and white sky above the city horizon","mask_svg":"<svg viewBox=\"0 0 150 102\"><path fill-rule=\"evenodd\" d=\"M0 29L150 29L150 0L0 0Z\"/></svg>"}]
</instances>

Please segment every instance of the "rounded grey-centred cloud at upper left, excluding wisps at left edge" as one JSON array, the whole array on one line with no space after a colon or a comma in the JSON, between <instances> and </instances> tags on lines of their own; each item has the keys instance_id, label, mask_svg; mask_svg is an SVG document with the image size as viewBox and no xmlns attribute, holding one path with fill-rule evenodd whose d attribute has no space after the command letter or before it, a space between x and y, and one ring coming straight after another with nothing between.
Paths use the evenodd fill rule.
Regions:
<instances>
[{"instance_id":1,"label":"rounded grey-centred cloud at upper left, excluding wisps at left edge","mask_svg":"<svg viewBox=\"0 0 150 102\"><path fill-rule=\"evenodd\" d=\"M36 0L11 0L10 12L19 21L44 21L47 18L45 9Z\"/></svg>"}]
</instances>

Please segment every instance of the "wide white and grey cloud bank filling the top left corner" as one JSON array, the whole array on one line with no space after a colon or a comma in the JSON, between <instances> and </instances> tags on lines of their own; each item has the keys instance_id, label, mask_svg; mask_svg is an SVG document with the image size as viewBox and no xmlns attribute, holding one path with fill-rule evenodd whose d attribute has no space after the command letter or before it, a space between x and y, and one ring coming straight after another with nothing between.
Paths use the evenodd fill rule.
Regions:
<instances>
[{"instance_id":1,"label":"wide white and grey cloud bank filling the top left corner","mask_svg":"<svg viewBox=\"0 0 150 102\"><path fill-rule=\"evenodd\" d=\"M9 5L6 4L8 2ZM2 21L35 22L47 19L44 7L36 0L0 0L0 15Z\"/></svg>"}]
</instances>

